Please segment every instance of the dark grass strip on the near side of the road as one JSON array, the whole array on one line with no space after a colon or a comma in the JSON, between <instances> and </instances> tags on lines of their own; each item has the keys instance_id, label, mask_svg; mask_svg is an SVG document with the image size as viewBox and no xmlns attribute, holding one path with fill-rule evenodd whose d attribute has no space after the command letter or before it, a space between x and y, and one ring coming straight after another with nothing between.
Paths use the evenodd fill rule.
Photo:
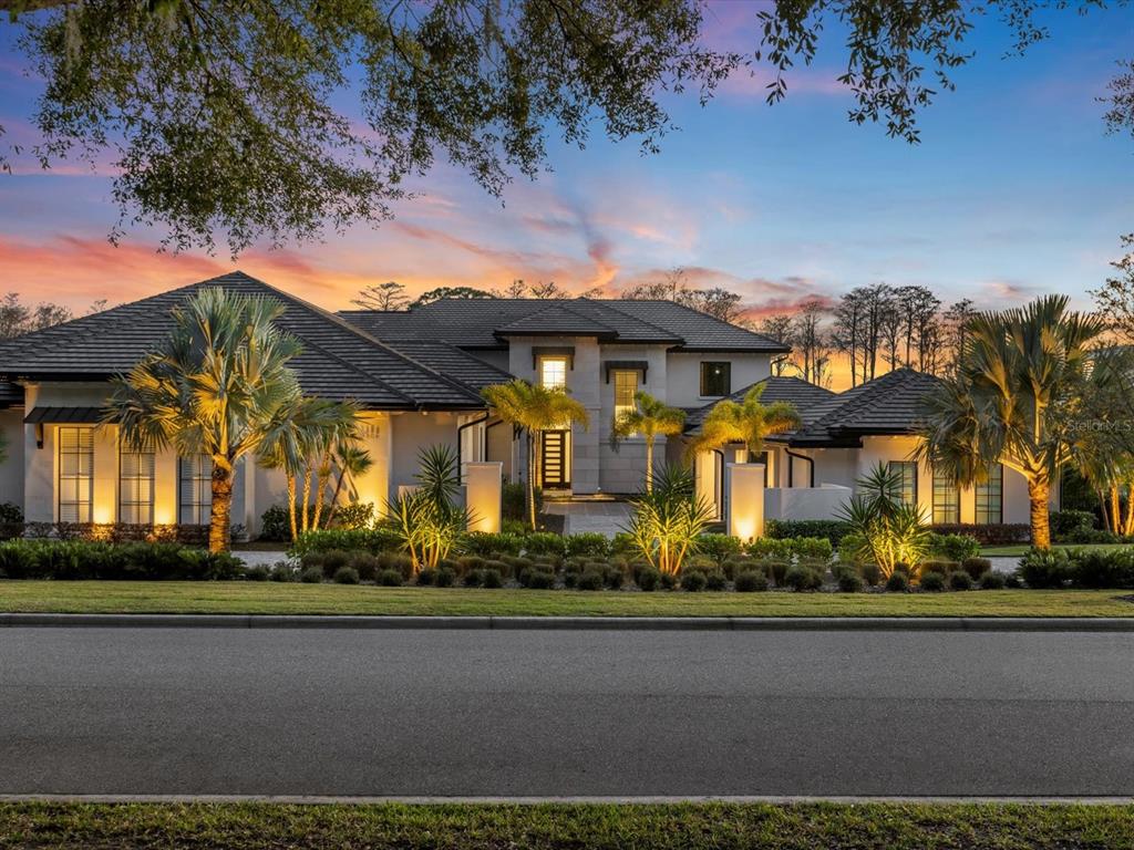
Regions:
<instances>
[{"instance_id":1,"label":"dark grass strip on the near side of the road","mask_svg":"<svg viewBox=\"0 0 1134 850\"><path fill-rule=\"evenodd\" d=\"M0 848L1108 850L1131 835L1123 806L0 806Z\"/></svg>"}]
</instances>

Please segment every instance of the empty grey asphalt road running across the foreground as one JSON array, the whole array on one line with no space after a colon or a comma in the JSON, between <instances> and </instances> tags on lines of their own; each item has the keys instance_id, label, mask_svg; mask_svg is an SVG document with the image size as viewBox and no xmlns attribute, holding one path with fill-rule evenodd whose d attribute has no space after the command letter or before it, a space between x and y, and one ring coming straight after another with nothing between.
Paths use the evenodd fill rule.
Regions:
<instances>
[{"instance_id":1,"label":"empty grey asphalt road running across the foreground","mask_svg":"<svg viewBox=\"0 0 1134 850\"><path fill-rule=\"evenodd\" d=\"M1134 635L0 630L0 793L1134 794Z\"/></svg>"}]
</instances>

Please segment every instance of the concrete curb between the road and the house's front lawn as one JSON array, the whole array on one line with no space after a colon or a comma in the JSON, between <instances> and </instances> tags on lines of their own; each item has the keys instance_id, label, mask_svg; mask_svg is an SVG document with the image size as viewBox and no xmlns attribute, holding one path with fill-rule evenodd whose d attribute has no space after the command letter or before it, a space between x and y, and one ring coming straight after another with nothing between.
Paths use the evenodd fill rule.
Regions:
<instances>
[{"instance_id":1,"label":"concrete curb between the road and the house's front lawn","mask_svg":"<svg viewBox=\"0 0 1134 850\"><path fill-rule=\"evenodd\" d=\"M1112 631L1134 617L319 617L0 614L0 628L466 629L560 631Z\"/></svg>"}]
</instances>

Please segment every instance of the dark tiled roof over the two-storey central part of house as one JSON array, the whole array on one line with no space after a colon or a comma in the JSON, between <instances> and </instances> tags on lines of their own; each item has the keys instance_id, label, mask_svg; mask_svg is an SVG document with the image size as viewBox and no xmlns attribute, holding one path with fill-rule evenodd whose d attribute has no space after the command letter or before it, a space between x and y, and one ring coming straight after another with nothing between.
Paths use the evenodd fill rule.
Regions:
<instances>
[{"instance_id":1,"label":"dark tiled roof over the two-storey central part of house","mask_svg":"<svg viewBox=\"0 0 1134 850\"><path fill-rule=\"evenodd\" d=\"M345 318L387 340L435 339L462 348L502 348L508 334L595 335L688 351L789 350L768 337L674 301L572 298L443 298L411 311L346 311Z\"/></svg>"}]
</instances>

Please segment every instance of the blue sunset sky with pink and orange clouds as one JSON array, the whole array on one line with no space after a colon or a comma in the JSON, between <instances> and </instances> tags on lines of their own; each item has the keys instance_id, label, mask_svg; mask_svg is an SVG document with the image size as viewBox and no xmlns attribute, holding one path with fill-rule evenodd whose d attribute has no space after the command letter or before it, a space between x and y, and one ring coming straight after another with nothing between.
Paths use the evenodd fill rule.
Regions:
<instances>
[{"instance_id":1,"label":"blue sunset sky with pink and orange clouds","mask_svg":"<svg viewBox=\"0 0 1134 850\"><path fill-rule=\"evenodd\" d=\"M706 39L751 51L755 11L714 3ZM107 173L44 173L18 156L0 175L0 290L82 312L239 267L333 309L387 280L418 292L523 278L613 295L682 266L694 286L739 292L753 318L880 281L979 307L1051 291L1089 306L1119 236L1134 231L1134 139L1106 136L1095 101L1129 58L1134 9L1047 20L1049 41L1005 58L1008 32L978 19L966 39L976 56L922 114L920 145L847 121L845 53L829 32L816 66L787 76L784 103L765 104L760 70L735 75L705 108L667 100L680 129L660 154L601 136L583 151L552 143L553 172L517 177L502 202L441 163L391 222L235 261L223 247L160 253L145 229L112 246ZM23 74L17 28L0 23L0 125L27 145L42 82Z\"/></svg>"}]
</instances>

